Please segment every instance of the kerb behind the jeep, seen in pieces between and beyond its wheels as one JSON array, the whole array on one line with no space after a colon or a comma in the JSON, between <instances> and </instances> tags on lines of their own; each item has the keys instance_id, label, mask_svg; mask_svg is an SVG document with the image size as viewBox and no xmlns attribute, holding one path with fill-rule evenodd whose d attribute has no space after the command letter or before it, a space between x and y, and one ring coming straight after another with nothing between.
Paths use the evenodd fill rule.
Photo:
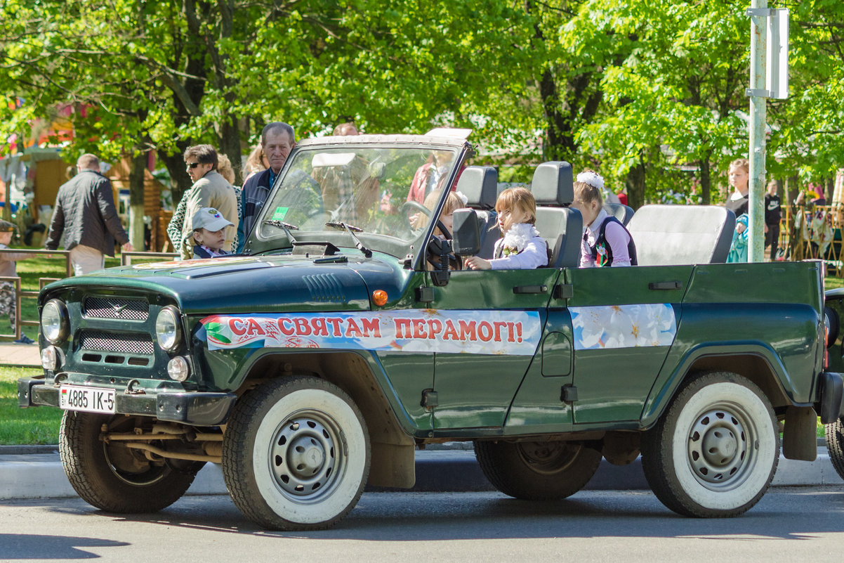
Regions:
<instances>
[{"instance_id":1,"label":"kerb behind the jeep, seen in pieces between and beyond its wheels","mask_svg":"<svg viewBox=\"0 0 844 563\"><path fill-rule=\"evenodd\" d=\"M795 462L780 457L774 486L840 485L841 478L832 467L826 446L819 440L814 462ZM467 449L468 448L468 449ZM468 492L493 490L475 460L470 442L438 445L436 449L416 452L417 492ZM641 458L619 467L601 462L598 473L586 489L649 489L641 470ZM367 488L372 491L387 489ZM405 490L405 489L394 489ZM218 465L208 463L187 491L188 495L225 495L223 473ZM59 460L57 446L0 446L0 500L73 497Z\"/></svg>"}]
</instances>

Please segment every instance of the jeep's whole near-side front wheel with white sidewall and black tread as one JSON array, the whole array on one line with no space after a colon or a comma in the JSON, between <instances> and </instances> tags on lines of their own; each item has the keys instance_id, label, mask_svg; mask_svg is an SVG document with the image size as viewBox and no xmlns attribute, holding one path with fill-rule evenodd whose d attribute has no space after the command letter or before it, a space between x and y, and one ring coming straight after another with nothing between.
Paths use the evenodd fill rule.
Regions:
<instances>
[{"instance_id":1,"label":"jeep's whole near-side front wheel with white sidewall and black tread","mask_svg":"<svg viewBox=\"0 0 844 563\"><path fill-rule=\"evenodd\" d=\"M369 469L360 410L337 385L315 377L249 391L225 430L225 485L235 506L268 529L333 526L357 504Z\"/></svg>"}]
</instances>

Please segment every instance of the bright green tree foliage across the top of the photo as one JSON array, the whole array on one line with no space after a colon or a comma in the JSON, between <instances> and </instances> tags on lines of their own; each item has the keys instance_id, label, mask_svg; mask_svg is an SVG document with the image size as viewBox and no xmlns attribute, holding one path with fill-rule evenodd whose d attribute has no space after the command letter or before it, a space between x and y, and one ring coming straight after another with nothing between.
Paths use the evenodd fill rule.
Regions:
<instances>
[{"instance_id":1,"label":"bright green tree foliage across the top of the photo","mask_svg":"<svg viewBox=\"0 0 844 563\"><path fill-rule=\"evenodd\" d=\"M844 4L770 5L792 10L792 96L769 104L769 171L830 178L844 161ZM450 124L505 156L596 167L635 206L693 184L714 202L728 161L747 153L747 7L5 0L0 85L24 104L0 107L0 134L71 104L72 150L156 150L184 189L187 145L211 143L236 164L268 121L300 137L346 119L370 133Z\"/></svg>"}]
</instances>

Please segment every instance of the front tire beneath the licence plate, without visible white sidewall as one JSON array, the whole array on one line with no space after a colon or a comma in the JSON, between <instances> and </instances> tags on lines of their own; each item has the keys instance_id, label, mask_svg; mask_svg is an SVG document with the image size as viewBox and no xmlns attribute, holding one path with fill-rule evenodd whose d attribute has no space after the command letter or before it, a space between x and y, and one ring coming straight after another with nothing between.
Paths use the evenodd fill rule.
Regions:
<instances>
[{"instance_id":1,"label":"front tire beneath the licence plate, without visible white sidewall","mask_svg":"<svg viewBox=\"0 0 844 563\"><path fill-rule=\"evenodd\" d=\"M109 414L65 411L58 449L64 472L78 495L91 506L122 514L156 512L185 494L204 463L149 462L142 453L100 440L103 424L112 432L130 432L135 419Z\"/></svg>"}]
</instances>

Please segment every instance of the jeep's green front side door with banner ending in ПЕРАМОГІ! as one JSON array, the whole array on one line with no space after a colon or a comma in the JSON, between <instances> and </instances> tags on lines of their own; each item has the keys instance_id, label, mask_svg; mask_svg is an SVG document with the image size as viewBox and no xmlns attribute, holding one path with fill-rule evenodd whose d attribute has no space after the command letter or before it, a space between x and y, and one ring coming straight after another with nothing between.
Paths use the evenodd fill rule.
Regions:
<instances>
[{"instance_id":1,"label":"jeep's green front side door with banner ending in \u041f\u0415\u0420\u0410\u041c\u041e\u0413\u0406!","mask_svg":"<svg viewBox=\"0 0 844 563\"><path fill-rule=\"evenodd\" d=\"M538 347L559 270L453 271L430 304L471 345L435 354L435 435L498 429ZM465 434L465 433L464 433Z\"/></svg>"}]
</instances>

